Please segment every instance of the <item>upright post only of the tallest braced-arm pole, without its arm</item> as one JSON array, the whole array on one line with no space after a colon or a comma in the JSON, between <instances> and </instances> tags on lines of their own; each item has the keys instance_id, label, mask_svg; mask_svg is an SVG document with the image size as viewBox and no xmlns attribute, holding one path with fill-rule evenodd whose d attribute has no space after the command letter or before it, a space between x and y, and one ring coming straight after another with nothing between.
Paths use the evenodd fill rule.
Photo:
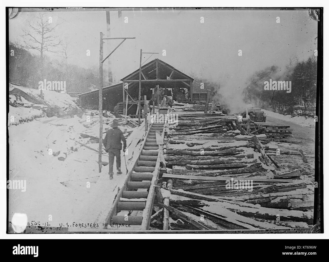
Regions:
<instances>
[{"instance_id":1,"label":"upright post only of the tallest braced-arm pole, without its arm","mask_svg":"<svg viewBox=\"0 0 329 262\"><path fill-rule=\"evenodd\" d=\"M103 33L100 32L99 43L99 147L98 147L98 172L102 172L102 144L103 144Z\"/></svg>"}]
</instances>

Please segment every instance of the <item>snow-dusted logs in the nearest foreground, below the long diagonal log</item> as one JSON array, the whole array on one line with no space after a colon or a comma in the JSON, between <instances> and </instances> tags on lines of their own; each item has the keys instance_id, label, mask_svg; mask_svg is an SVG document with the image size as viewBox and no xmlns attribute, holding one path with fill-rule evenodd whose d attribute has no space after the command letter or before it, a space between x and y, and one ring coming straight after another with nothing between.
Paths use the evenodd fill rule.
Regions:
<instances>
[{"instance_id":1,"label":"snow-dusted logs in the nearest foreground, below the long diagonal log","mask_svg":"<svg viewBox=\"0 0 329 262\"><path fill-rule=\"evenodd\" d=\"M313 223L313 212L309 210L260 207L183 190L171 190L169 205L161 206L169 211L170 228L176 230L284 229Z\"/></svg>"}]
</instances>

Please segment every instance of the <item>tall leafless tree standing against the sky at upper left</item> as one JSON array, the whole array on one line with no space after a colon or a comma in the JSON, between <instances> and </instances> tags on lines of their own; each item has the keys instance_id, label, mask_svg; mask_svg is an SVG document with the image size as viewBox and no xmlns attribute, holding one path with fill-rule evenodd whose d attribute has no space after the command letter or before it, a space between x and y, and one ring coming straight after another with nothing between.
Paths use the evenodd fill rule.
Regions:
<instances>
[{"instance_id":1,"label":"tall leafless tree standing against the sky at upper left","mask_svg":"<svg viewBox=\"0 0 329 262\"><path fill-rule=\"evenodd\" d=\"M35 24L28 22L31 30L24 30L24 43L27 49L35 49L40 52L41 65L43 64L44 52L57 52L56 47L62 44L58 36L54 35L54 30L58 26L51 27L49 18L39 14Z\"/></svg>"}]
</instances>

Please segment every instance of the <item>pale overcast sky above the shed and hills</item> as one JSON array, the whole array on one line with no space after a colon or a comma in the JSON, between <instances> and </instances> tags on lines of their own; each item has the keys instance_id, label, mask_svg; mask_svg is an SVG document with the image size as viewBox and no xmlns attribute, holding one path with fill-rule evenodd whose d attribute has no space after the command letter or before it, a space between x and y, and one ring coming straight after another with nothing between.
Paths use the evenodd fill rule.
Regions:
<instances>
[{"instance_id":1,"label":"pale overcast sky above the shed and hills","mask_svg":"<svg viewBox=\"0 0 329 262\"><path fill-rule=\"evenodd\" d=\"M106 12L48 12L57 34L71 48L69 63L85 68L99 65L99 33L106 32ZM10 41L22 44L22 29L29 29L38 13L19 13L10 19ZM267 66L284 67L290 59L305 60L317 46L317 22L308 11L116 11L110 12L111 37L126 40L111 56L114 80L139 68L139 50L159 52L159 58L184 73L212 81L240 85ZM204 23L200 23L200 17ZM125 17L128 23L124 23ZM277 23L276 17L280 17ZM104 55L121 40L105 40ZM166 56L162 56L162 50ZM86 51L90 50L90 56ZM242 50L242 56L238 56ZM50 57L56 55L49 53ZM57 55L58 56L58 55ZM149 55L142 58L142 63ZM107 67L107 63L105 63Z\"/></svg>"}]
</instances>

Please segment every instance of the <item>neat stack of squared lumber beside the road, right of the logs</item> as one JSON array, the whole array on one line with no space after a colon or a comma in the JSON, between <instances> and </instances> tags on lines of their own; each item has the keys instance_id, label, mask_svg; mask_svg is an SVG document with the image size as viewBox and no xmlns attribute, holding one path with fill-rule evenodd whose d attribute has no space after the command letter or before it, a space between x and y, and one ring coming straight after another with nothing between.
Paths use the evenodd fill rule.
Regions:
<instances>
[{"instance_id":1,"label":"neat stack of squared lumber beside the road, right of the logs","mask_svg":"<svg viewBox=\"0 0 329 262\"><path fill-rule=\"evenodd\" d=\"M292 136L290 126L278 123L255 122L257 129L261 129L261 133L266 134L267 138L271 138L276 142L287 142Z\"/></svg>"}]
</instances>

